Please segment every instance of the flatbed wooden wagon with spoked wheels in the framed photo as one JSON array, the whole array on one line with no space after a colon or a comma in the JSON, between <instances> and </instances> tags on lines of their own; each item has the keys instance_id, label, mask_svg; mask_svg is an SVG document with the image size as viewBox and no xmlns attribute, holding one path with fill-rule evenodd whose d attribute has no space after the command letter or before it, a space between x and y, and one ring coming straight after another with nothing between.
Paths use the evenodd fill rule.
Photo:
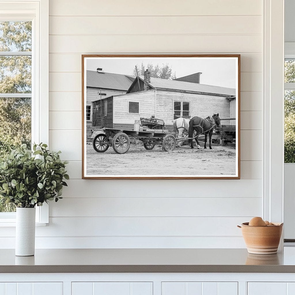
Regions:
<instances>
[{"instance_id":1,"label":"flatbed wooden wagon with spoked wheels in the framed photo","mask_svg":"<svg viewBox=\"0 0 295 295\"><path fill-rule=\"evenodd\" d=\"M94 136L93 148L98 153L104 153L109 146L112 146L117 154L124 154L130 148L130 138L134 138L142 141L146 150L152 150L155 145L161 145L165 152L175 149L175 133L165 128L163 120L154 117L140 118L138 127L133 130L102 128L101 132L97 132Z\"/></svg>"}]
</instances>

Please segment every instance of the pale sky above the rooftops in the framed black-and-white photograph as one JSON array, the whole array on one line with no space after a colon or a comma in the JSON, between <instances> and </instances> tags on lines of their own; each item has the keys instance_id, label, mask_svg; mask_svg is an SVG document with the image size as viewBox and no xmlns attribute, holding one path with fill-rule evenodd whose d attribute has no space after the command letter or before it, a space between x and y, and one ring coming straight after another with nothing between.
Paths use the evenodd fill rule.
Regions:
<instances>
[{"instance_id":1,"label":"pale sky above the rooftops in the framed black-and-white photograph","mask_svg":"<svg viewBox=\"0 0 295 295\"><path fill-rule=\"evenodd\" d=\"M87 70L102 68L107 73L132 75L135 65L168 63L176 78L201 72L200 83L236 88L236 60L228 58L95 58L88 59Z\"/></svg>"}]
</instances>

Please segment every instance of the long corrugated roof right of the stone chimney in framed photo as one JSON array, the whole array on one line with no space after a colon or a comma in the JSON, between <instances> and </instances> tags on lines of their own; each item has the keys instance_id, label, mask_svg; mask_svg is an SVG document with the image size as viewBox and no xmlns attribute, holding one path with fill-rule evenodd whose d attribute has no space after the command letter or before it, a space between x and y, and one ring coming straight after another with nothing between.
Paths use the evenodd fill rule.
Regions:
<instances>
[{"instance_id":1,"label":"long corrugated roof right of the stone chimney in framed photo","mask_svg":"<svg viewBox=\"0 0 295 295\"><path fill-rule=\"evenodd\" d=\"M140 76L143 80L143 76ZM235 96L235 88L227 88L214 85L190 83L183 81L167 80L160 78L150 78L150 86L156 89L171 89L178 91L191 91L191 92L200 92L200 93L210 93L210 94L219 94L226 96Z\"/></svg>"}]
</instances>

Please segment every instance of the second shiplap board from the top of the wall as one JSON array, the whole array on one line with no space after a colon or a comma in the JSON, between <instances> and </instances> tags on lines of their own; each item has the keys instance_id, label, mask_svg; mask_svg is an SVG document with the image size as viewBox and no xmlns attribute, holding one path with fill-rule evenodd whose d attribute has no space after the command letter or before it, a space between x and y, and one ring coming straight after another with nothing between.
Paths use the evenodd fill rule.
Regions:
<instances>
[{"instance_id":1,"label":"second shiplap board from the top of the wall","mask_svg":"<svg viewBox=\"0 0 295 295\"><path fill-rule=\"evenodd\" d=\"M118 26L117 23L120 23ZM50 17L50 35L261 34L260 16ZM136 26L134 25L136 24ZM232 24L235 24L233 26ZM87 31L85 30L87 28Z\"/></svg>"}]
</instances>

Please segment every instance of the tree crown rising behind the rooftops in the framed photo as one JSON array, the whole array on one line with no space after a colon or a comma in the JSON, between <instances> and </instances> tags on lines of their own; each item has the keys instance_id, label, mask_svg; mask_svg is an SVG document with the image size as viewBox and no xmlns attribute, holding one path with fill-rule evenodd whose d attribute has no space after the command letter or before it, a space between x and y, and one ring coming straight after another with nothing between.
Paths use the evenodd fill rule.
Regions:
<instances>
[{"instance_id":1,"label":"tree crown rising behind the rooftops in the framed photo","mask_svg":"<svg viewBox=\"0 0 295 295\"><path fill-rule=\"evenodd\" d=\"M175 72L172 73L171 66L166 63L162 66L153 65L152 63L148 63L147 66L144 65L142 62L140 66L137 65L138 75L144 76L145 70L148 69L150 71L150 76L153 78L161 78L161 79L167 79L167 80L173 80L176 78ZM133 75L136 76L136 70L133 70Z\"/></svg>"}]
</instances>

